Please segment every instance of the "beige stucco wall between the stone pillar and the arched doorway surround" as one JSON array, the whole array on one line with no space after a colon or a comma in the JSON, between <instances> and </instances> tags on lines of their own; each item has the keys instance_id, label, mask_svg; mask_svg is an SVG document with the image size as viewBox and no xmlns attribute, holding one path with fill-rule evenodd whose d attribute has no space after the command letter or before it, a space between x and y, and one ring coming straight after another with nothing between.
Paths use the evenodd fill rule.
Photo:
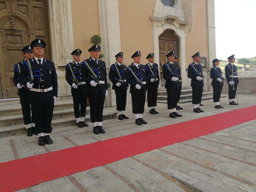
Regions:
<instances>
[{"instance_id":1,"label":"beige stucco wall between the stone pillar and the arched doorway surround","mask_svg":"<svg viewBox=\"0 0 256 192\"><path fill-rule=\"evenodd\" d=\"M130 65L132 54L141 51L141 63L147 62L146 56L154 52L153 36L151 33L152 21L149 17L153 14L155 0L118 1L121 51L124 52L124 63Z\"/></svg>"}]
</instances>

